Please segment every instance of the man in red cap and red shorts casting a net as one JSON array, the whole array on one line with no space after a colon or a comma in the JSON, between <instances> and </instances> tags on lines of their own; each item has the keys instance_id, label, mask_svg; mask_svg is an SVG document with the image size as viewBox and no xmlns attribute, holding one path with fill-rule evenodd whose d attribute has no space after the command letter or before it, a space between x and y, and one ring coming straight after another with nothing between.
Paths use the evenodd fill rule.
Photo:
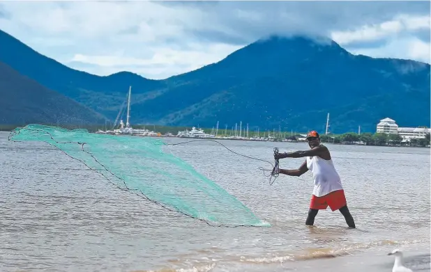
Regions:
<instances>
[{"instance_id":1,"label":"man in red cap and red shorts casting a net","mask_svg":"<svg viewBox=\"0 0 431 272\"><path fill-rule=\"evenodd\" d=\"M311 170L315 187L312 192L310 209L305 225L313 225L319 209L326 209L328 206L332 211L340 210L345 217L347 225L355 228L354 219L347 208L347 201L342 188L341 179L338 175L331 154L326 146L320 143L320 136L317 131L310 131L307 134L310 150L296 151L291 153L275 154L275 159L307 157L302 165L295 170L279 169L279 173L299 177L308 170Z\"/></svg>"}]
</instances>

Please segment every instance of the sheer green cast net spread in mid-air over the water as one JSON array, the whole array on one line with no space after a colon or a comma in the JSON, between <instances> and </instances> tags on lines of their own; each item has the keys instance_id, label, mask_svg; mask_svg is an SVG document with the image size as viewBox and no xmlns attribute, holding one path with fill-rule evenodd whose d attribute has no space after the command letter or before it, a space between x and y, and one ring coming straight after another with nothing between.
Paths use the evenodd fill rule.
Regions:
<instances>
[{"instance_id":1,"label":"sheer green cast net spread in mid-air over the water","mask_svg":"<svg viewBox=\"0 0 431 272\"><path fill-rule=\"evenodd\" d=\"M209 225L269 226L190 164L163 152L160 139L27 125L11 131L9 141L49 143L119 189Z\"/></svg>"}]
</instances>

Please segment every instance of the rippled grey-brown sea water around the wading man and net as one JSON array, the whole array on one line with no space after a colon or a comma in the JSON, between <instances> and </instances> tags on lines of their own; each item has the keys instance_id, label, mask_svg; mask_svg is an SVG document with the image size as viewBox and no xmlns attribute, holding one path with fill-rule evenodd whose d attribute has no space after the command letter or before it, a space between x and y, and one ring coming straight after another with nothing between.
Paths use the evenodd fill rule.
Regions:
<instances>
[{"instance_id":1,"label":"rippled grey-brown sea water around the wading man and net","mask_svg":"<svg viewBox=\"0 0 431 272\"><path fill-rule=\"evenodd\" d=\"M0 271L391 271L401 248L430 271L430 150L327 145L356 230L339 211L305 218L312 175L280 175L213 142L166 147L217 182L271 227L210 227L116 189L45 143L0 133ZM165 138L167 143L186 141ZM220 141L273 162L306 143ZM297 168L303 159L282 159ZM125 167L126 170L126 167ZM154 177L157 179L157 177ZM183 269L183 270L181 270Z\"/></svg>"}]
</instances>

